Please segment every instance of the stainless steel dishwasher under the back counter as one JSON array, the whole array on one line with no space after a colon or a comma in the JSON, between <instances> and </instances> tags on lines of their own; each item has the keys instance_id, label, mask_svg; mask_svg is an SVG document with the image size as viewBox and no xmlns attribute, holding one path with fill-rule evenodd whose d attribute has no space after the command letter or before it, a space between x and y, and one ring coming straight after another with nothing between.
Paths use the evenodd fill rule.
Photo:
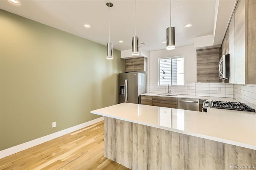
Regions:
<instances>
[{"instance_id":1,"label":"stainless steel dishwasher under the back counter","mask_svg":"<svg viewBox=\"0 0 256 170\"><path fill-rule=\"evenodd\" d=\"M190 111L199 111L199 99L178 98L177 108Z\"/></svg>"}]
</instances>

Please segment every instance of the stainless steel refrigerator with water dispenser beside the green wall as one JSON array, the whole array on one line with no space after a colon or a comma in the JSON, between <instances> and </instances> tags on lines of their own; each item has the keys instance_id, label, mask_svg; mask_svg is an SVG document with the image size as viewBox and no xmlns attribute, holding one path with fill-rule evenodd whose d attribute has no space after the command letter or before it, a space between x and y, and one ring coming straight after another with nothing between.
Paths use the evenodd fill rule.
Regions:
<instances>
[{"instance_id":1,"label":"stainless steel refrigerator with water dispenser beside the green wall","mask_svg":"<svg viewBox=\"0 0 256 170\"><path fill-rule=\"evenodd\" d=\"M119 103L140 104L140 94L146 93L146 74L129 72L119 74Z\"/></svg>"}]
</instances>

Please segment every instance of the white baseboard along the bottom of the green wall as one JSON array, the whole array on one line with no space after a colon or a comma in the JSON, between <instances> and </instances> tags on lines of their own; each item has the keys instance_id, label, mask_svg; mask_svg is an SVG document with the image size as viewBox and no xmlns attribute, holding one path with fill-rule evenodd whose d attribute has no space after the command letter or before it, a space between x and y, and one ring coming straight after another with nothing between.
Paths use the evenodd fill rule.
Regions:
<instances>
[{"instance_id":1,"label":"white baseboard along the bottom of the green wall","mask_svg":"<svg viewBox=\"0 0 256 170\"><path fill-rule=\"evenodd\" d=\"M19 144L17 146L13 146L11 148L7 148L5 150L1 150L0 151L0 159L4 158L6 156L9 156L9 155L15 154L17 152L20 152L22 150L31 148L31 147L36 146L38 144L47 142L47 141L52 140L54 138L58 138L60 136L63 136L64 134L68 134L70 132L74 132L74 131L79 130L81 128L90 126L90 125L92 125L94 123L98 123L98 122L103 121L103 120L104 120L104 117L100 117L98 119L94 119L92 121L88 121L86 123L82 123L82 124L76 125L74 127L66 128L64 130L60 130L58 132L55 132L55 133L52 133L52 134L48 134L48 135L43 136L41 138L37 138L37 139L31 140L31 141Z\"/></svg>"}]
</instances>

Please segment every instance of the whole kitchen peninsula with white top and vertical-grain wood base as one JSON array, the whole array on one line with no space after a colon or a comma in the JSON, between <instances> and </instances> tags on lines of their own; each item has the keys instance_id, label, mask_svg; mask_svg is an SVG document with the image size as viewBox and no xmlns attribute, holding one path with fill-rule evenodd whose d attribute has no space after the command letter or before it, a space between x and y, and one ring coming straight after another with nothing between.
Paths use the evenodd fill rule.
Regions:
<instances>
[{"instance_id":1,"label":"whole kitchen peninsula with white top and vertical-grain wood base","mask_svg":"<svg viewBox=\"0 0 256 170\"><path fill-rule=\"evenodd\" d=\"M256 115L121 103L105 117L105 157L131 169L256 167Z\"/></svg>"}]
</instances>

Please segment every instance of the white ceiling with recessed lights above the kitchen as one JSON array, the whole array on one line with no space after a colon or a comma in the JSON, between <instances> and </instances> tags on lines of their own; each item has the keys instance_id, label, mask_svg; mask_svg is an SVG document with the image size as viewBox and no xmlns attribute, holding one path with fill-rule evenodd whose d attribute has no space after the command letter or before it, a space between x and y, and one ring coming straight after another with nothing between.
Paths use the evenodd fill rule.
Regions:
<instances>
[{"instance_id":1,"label":"white ceiling with recessed lights above the kitchen","mask_svg":"<svg viewBox=\"0 0 256 170\"><path fill-rule=\"evenodd\" d=\"M219 1L219 0L218 0ZM220 0L229 5L235 0ZM106 45L108 43L110 20L110 41L118 50L131 49L132 36L135 36L135 0L20 0L21 6L15 6L8 0L0 0L0 8L25 18L69 32L76 36ZM109 8L106 2L114 6ZM164 49L166 28L170 26L170 0L137 0L137 33L143 49L154 51ZM218 32L220 44L233 9L221 12L218 16L218 31L214 24L216 0L172 0L172 26L175 27L176 47L193 45L193 39ZM221 3L219 3L221 4ZM217 8L218 9L218 8ZM218 12L220 13L220 11ZM217 13L216 13L217 14ZM222 18L226 20L222 21ZM228 18L228 19L227 19ZM219 22L218 22L219 21ZM84 28L88 23L92 27ZM184 28L185 24L192 24ZM217 30L214 30L215 29ZM215 35L216 36L216 35ZM124 43L119 43L123 40Z\"/></svg>"}]
</instances>

